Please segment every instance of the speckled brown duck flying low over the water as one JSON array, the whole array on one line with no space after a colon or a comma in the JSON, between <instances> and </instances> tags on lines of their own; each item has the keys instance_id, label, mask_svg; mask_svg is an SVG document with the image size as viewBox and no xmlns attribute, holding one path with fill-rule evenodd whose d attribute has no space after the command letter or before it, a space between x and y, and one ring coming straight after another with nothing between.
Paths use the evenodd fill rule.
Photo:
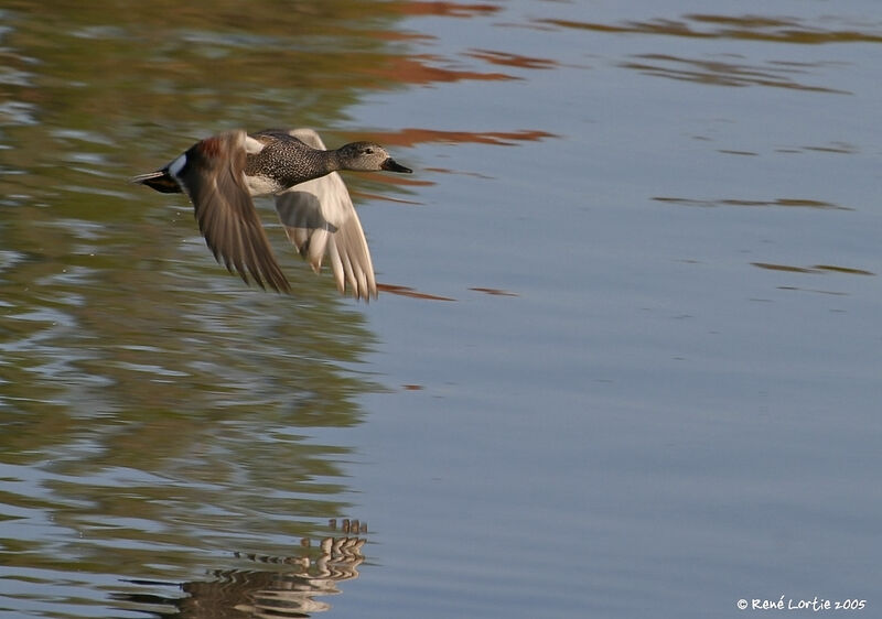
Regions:
<instances>
[{"instance_id":1,"label":"speckled brown duck flying low over the water","mask_svg":"<svg viewBox=\"0 0 882 619\"><path fill-rule=\"evenodd\" d=\"M319 272L325 253L337 289L356 298L377 296L362 224L336 170L410 173L372 142L326 150L311 129L227 131L193 144L174 161L132 178L162 193L186 193L200 230L218 262L260 287L290 292L254 196L276 196L288 238Z\"/></svg>"}]
</instances>

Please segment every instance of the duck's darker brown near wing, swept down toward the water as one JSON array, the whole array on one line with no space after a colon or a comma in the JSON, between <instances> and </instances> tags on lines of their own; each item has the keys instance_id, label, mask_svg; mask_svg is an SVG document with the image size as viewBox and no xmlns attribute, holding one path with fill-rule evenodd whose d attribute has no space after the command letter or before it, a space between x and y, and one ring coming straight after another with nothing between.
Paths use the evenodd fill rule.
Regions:
<instances>
[{"instance_id":1,"label":"duck's darker brown near wing, swept down toward the water","mask_svg":"<svg viewBox=\"0 0 882 619\"><path fill-rule=\"evenodd\" d=\"M245 131L228 131L193 145L180 170L181 181L196 210L200 230L214 257L248 283L290 292L255 204L245 187ZM175 162L176 163L176 162Z\"/></svg>"}]
</instances>

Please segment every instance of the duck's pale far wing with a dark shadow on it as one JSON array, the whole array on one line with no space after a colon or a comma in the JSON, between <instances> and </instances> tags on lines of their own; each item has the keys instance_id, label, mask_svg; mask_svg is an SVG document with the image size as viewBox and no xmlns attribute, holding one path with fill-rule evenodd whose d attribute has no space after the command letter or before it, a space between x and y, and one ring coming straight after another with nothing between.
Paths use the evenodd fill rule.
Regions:
<instances>
[{"instance_id":1,"label":"duck's pale far wing with a dark shadow on it","mask_svg":"<svg viewBox=\"0 0 882 619\"><path fill-rule=\"evenodd\" d=\"M311 129L293 129L290 134L313 149L325 150ZM332 172L282 192L276 196L276 210L288 238L315 272L327 254L340 292L348 287L356 298L376 298L370 250L340 174Z\"/></svg>"}]
</instances>

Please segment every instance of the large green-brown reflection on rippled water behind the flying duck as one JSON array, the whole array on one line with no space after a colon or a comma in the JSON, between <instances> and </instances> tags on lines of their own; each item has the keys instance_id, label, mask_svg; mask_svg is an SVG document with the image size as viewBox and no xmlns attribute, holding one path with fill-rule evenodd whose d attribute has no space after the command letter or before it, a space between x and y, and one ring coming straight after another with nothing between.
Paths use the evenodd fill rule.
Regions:
<instances>
[{"instance_id":1,"label":"large green-brown reflection on rippled water behind the flying duck","mask_svg":"<svg viewBox=\"0 0 882 619\"><path fill-rule=\"evenodd\" d=\"M7 568L183 579L217 552L284 555L348 515L351 449L310 428L361 423L357 397L383 389L359 369L374 344L362 308L280 229L295 294L248 289L214 262L182 196L127 178L230 127L338 123L380 86L398 15L241 7L4 3Z\"/></svg>"}]
</instances>

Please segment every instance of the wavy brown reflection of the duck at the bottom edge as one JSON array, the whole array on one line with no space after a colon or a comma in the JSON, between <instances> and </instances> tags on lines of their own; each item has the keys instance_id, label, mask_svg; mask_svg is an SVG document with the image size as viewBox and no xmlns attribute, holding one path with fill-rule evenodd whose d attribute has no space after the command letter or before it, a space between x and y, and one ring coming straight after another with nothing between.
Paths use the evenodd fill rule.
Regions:
<instances>
[{"instance_id":1,"label":"wavy brown reflection of the duck at the bottom edge","mask_svg":"<svg viewBox=\"0 0 882 619\"><path fill-rule=\"evenodd\" d=\"M330 521L334 534L316 545L301 540L295 555L266 556L236 553L237 558L254 563L284 566L275 569L217 569L209 580L174 584L186 597L121 594L118 600L133 602L155 617L189 619L245 619L310 617L330 610L331 605L316 599L342 593L337 584L358 577L364 562L362 546L367 524L345 519L337 526ZM336 534L338 533L338 534ZM154 580L129 580L137 585L171 585ZM158 609L158 606L165 609Z\"/></svg>"}]
</instances>

